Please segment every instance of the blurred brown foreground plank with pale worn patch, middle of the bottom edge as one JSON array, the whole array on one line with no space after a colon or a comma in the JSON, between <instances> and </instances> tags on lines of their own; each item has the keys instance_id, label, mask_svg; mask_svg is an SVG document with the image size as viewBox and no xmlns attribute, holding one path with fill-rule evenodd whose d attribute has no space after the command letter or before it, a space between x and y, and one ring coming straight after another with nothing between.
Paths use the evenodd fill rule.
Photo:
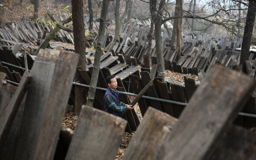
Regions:
<instances>
[{"instance_id":1,"label":"blurred brown foreground plank with pale worn patch, middle of the bottom edge","mask_svg":"<svg viewBox=\"0 0 256 160\"><path fill-rule=\"evenodd\" d=\"M164 141L176 122L176 118L149 107L123 160L151 160L154 150L157 149L157 143Z\"/></svg>"}]
</instances>

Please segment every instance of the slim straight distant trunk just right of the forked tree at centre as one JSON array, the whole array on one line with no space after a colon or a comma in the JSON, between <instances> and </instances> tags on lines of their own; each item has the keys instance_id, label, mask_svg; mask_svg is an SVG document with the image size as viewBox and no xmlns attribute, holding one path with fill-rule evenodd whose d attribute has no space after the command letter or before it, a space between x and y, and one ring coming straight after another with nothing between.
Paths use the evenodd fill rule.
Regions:
<instances>
[{"instance_id":1,"label":"slim straight distant trunk just right of the forked tree at centre","mask_svg":"<svg viewBox=\"0 0 256 160\"><path fill-rule=\"evenodd\" d=\"M182 0L177 0L178 1L178 16L182 16ZM177 51L177 57L176 57L176 61L178 61L178 59L181 57L181 22L182 19L177 19L177 47L178 47L178 51Z\"/></svg>"}]
</instances>

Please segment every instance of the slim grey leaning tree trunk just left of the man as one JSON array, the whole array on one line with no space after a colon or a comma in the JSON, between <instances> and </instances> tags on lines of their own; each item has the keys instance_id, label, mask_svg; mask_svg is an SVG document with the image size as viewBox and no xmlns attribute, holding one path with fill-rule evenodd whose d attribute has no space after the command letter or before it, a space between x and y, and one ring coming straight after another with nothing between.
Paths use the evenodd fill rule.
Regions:
<instances>
[{"instance_id":1,"label":"slim grey leaning tree trunk just left of the man","mask_svg":"<svg viewBox=\"0 0 256 160\"><path fill-rule=\"evenodd\" d=\"M102 55L102 48L104 47L103 44L104 44L104 36L105 36L105 24L106 24L106 18L108 13L108 4L109 4L109 0L103 0L102 12L101 12L100 21L99 21L98 41L97 41L94 65L92 70L92 78L91 78L91 83L90 83L88 98L86 103L86 106L90 106L90 107L93 106L96 85L98 82L100 58Z\"/></svg>"}]
</instances>

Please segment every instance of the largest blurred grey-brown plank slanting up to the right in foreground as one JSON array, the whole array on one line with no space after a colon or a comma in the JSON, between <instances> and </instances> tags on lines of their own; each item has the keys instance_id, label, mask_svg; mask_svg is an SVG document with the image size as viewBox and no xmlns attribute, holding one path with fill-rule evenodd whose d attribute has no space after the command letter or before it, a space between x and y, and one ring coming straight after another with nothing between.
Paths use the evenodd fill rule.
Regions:
<instances>
[{"instance_id":1,"label":"largest blurred grey-brown plank slanting up to the right in foreground","mask_svg":"<svg viewBox=\"0 0 256 160\"><path fill-rule=\"evenodd\" d=\"M154 159L207 159L254 86L254 80L243 73L221 65L212 66L171 134L154 153Z\"/></svg>"}]
</instances>

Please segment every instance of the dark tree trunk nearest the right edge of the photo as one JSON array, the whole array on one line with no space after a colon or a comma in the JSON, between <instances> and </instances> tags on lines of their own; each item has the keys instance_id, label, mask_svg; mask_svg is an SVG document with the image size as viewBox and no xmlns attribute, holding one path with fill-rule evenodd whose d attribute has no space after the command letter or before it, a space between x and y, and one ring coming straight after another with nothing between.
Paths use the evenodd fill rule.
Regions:
<instances>
[{"instance_id":1,"label":"dark tree trunk nearest the right edge of the photo","mask_svg":"<svg viewBox=\"0 0 256 160\"><path fill-rule=\"evenodd\" d=\"M240 64L243 64L243 72L246 72L245 61L249 60L249 50L253 34L253 26L255 20L256 2L249 1L246 23L243 33L243 42L241 48Z\"/></svg>"}]
</instances>

